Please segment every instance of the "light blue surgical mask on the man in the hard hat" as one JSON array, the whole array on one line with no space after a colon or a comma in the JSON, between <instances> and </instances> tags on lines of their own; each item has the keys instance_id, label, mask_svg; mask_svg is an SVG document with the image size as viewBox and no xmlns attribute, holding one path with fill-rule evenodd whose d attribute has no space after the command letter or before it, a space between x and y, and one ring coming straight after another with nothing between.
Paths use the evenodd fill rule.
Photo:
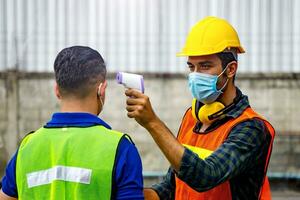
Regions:
<instances>
[{"instance_id":1,"label":"light blue surgical mask on the man in the hard hat","mask_svg":"<svg viewBox=\"0 0 300 200\"><path fill-rule=\"evenodd\" d=\"M228 79L221 89L217 89L218 78L224 73L227 67L220 75L210 75L199 72L189 74L189 89L194 98L204 104L210 104L217 100L223 89L227 85Z\"/></svg>"}]
</instances>

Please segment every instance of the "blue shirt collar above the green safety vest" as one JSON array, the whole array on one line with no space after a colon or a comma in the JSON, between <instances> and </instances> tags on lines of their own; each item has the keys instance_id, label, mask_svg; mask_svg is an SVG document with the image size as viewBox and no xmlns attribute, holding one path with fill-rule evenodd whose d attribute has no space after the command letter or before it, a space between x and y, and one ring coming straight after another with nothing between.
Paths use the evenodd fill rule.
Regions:
<instances>
[{"instance_id":1,"label":"blue shirt collar above the green safety vest","mask_svg":"<svg viewBox=\"0 0 300 200\"><path fill-rule=\"evenodd\" d=\"M111 127L98 116L90 113L54 113L52 119L47 122L45 128L58 128L58 127L89 127L95 125L102 125L105 128Z\"/></svg>"}]
</instances>

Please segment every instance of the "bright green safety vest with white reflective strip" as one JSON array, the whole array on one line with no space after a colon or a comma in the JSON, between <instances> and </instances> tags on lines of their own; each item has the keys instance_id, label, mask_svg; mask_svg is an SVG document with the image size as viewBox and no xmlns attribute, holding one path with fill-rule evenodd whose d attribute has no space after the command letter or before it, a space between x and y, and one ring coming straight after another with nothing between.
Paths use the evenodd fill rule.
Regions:
<instances>
[{"instance_id":1,"label":"bright green safety vest with white reflective strip","mask_svg":"<svg viewBox=\"0 0 300 200\"><path fill-rule=\"evenodd\" d=\"M19 199L111 199L116 151L124 134L103 126L40 128L18 151Z\"/></svg>"}]
</instances>

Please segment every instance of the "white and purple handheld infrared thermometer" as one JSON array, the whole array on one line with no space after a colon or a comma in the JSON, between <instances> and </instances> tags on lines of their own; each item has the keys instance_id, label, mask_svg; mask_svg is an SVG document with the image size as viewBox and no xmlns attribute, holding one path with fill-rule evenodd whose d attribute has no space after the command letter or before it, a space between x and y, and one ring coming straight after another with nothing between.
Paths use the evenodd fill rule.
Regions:
<instances>
[{"instance_id":1,"label":"white and purple handheld infrared thermometer","mask_svg":"<svg viewBox=\"0 0 300 200\"><path fill-rule=\"evenodd\" d=\"M125 72L118 72L117 83L124 85L126 88L132 88L139 90L141 93L144 93L144 78L139 74L131 74Z\"/></svg>"}]
</instances>

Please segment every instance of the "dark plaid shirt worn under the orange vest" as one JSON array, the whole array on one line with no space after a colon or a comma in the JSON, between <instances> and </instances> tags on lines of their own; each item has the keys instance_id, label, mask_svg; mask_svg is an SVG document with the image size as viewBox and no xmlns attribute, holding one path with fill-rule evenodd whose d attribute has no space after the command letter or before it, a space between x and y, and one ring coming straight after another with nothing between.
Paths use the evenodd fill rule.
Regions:
<instances>
[{"instance_id":1,"label":"dark plaid shirt worn under the orange vest","mask_svg":"<svg viewBox=\"0 0 300 200\"><path fill-rule=\"evenodd\" d=\"M248 97L237 89L238 101L222 120L207 131L237 118L249 107ZM196 126L201 127L200 122ZM196 128L195 128L196 129ZM251 119L236 125L224 143L212 155L202 160L185 149L178 172L169 168L163 181L152 186L160 199L174 199L175 174L194 190L207 191L230 181L232 199L258 199L264 177L271 135L262 120Z\"/></svg>"}]
</instances>

